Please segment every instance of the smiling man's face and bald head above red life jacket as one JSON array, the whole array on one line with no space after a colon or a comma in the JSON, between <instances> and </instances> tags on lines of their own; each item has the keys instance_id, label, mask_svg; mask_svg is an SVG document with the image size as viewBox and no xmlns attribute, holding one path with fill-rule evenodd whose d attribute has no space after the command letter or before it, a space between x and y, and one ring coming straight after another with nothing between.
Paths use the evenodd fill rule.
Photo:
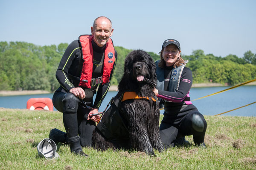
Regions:
<instances>
[{"instance_id":1,"label":"smiling man's face and bald head above red life jacket","mask_svg":"<svg viewBox=\"0 0 256 170\"><path fill-rule=\"evenodd\" d=\"M98 18L95 22L95 26L91 27L94 42L100 47L105 46L109 37L112 36L113 30L112 24L107 18Z\"/></svg>"}]
</instances>

